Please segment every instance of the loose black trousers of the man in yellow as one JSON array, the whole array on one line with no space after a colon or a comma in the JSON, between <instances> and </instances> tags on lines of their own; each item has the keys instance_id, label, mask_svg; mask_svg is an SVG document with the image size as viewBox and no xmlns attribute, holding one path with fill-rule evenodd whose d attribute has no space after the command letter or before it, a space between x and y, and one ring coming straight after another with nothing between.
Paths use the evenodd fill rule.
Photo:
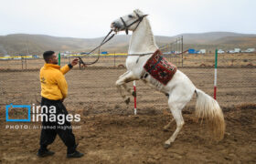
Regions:
<instances>
[{"instance_id":1,"label":"loose black trousers of the man in yellow","mask_svg":"<svg viewBox=\"0 0 256 164\"><path fill-rule=\"evenodd\" d=\"M69 121L66 120L66 116L69 114L65 106L60 100L50 100L48 98L42 97L41 101L41 107L46 106L48 108L48 112L44 109L44 114L52 115L49 113L49 108L51 106L54 106L56 108L56 121L49 121L44 119L42 121L42 130L41 130L41 137L40 137L40 150L47 149L47 146L51 144L57 134L59 135L59 138L64 142L64 144L67 146L67 153L73 153L76 150L76 141L75 136L72 132L71 124ZM51 107L52 108L52 107ZM42 108L41 108L42 110ZM57 119L58 116L61 115L62 117L65 117L65 121L62 121L61 124L59 123L59 120ZM63 123L64 122L64 123Z\"/></svg>"}]
</instances>

